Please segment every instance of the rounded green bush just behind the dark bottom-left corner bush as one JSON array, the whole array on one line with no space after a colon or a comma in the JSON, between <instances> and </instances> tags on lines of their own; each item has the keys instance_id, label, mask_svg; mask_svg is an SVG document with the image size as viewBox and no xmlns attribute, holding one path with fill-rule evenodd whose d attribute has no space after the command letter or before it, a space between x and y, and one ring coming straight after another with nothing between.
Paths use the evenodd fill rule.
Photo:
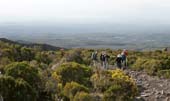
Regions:
<instances>
[{"instance_id":1,"label":"rounded green bush just behind the dark bottom-left corner bush","mask_svg":"<svg viewBox=\"0 0 170 101\"><path fill-rule=\"evenodd\" d=\"M40 77L38 70L31 67L27 62L14 62L5 67L5 75L15 79L23 79L33 88L38 89Z\"/></svg>"}]
</instances>

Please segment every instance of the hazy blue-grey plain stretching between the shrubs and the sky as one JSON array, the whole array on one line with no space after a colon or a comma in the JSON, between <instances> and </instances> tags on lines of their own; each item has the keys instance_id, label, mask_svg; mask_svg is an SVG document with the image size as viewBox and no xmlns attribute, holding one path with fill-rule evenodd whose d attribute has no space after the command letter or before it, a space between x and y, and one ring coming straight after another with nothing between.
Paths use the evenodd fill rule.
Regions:
<instances>
[{"instance_id":1,"label":"hazy blue-grey plain stretching between the shrubs and the sky","mask_svg":"<svg viewBox=\"0 0 170 101\"><path fill-rule=\"evenodd\" d=\"M113 27L113 28L112 28ZM0 38L19 43L50 44L64 48L157 49L170 47L169 31L138 27L81 25L67 26L0 26ZM129 28L129 29L128 29ZM158 28L159 29L159 28ZM167 33L165 33L167 32Z\"/></svg>"}]
</instances>

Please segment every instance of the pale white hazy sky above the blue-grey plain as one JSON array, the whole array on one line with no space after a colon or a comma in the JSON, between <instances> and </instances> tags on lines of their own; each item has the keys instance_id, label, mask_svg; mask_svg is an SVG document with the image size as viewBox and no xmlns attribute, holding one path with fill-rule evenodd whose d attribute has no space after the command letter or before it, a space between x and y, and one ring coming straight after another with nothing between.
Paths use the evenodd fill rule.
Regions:
<instances>
[{"instance_id":1,"label":"pale white hazy sky above the blue-grey plain","mask_svg":"<svg viewBox=\"0 0 170 101\"><path fill-rule=\"evenodd\" d=\"M170 0L0 0L0 23L170 24Z\"/></svg>"}]
</instances>

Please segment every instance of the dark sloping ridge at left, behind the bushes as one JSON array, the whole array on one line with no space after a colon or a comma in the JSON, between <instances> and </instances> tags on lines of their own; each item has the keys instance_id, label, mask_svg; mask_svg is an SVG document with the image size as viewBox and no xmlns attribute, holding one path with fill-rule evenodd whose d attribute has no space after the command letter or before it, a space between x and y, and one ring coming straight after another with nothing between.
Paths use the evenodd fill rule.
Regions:
<instances>
[{"instance_id":1,"label":"dark sloping ridge at left, behind the bushes","mask_svg":"<svg viewBox=\"0 0 170 101\"><path fill-rule=\"evenodd\" d=\"M26 46L26 47L39 47L40 49L42 49L43 51L55 51L55 50L60 50L62 49L62 47L55 47L52 45L48 45L48 44L38 44L38 43L30 43L30 42L25 42L25 41L12 41L6 38L0 38L0 41L5 42L5 43L9 43L9 44L19 44L21 46Z\"/></svg>"}]
</instances>

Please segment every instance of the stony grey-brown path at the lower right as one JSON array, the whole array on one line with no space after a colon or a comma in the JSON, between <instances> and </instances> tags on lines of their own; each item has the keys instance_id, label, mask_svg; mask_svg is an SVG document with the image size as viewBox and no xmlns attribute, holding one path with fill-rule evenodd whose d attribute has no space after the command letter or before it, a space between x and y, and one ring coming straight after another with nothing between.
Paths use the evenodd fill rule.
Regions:
<instances>
[{"instance_id":1,"label":"stony grey-brown path at the lower right","mask_svg":"<svg viewBox=\"0 0 170 101\"><path fill-rule=\"evenodd\" d=\"M145 72L125 70L139 87L136 101L170 101L170 80L149 76Z\"/></svg>"}]
</instances>

